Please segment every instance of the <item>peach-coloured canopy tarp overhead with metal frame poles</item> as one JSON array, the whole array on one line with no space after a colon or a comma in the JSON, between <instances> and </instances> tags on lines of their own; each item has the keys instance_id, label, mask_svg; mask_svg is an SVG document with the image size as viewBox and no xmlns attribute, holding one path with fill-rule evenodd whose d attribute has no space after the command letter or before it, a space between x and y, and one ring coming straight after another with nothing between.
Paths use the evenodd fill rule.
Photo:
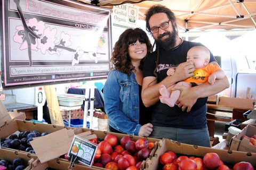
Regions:
<instances>
[{"instance_id":1,"label":"peach-coloured canopy tarp overhead with metal frame poles","mask_svg":"<svg viewBox=\"0 0 256 170\"><path fill-rule=\"evenodd\" d=\"M256 0L77 0L86 4L111 8L122 3L135 3L140 6L140 19L145 19L148 8L162 4L170 8L176 18L179 29L248 29L256 28Z\"/></svg>"}]
</instances>

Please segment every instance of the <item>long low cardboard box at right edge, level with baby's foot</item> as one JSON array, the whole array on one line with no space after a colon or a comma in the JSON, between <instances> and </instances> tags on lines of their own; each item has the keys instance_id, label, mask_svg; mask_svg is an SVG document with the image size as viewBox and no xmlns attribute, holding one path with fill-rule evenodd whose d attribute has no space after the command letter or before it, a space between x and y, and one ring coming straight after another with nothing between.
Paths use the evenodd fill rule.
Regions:
<instances>
[{"instance_id":1,"label":"long low cardboard box at right edge, level with baby's foot","mask_svg":"<svg viewBox=\"0 0 256 170\"><path fill-rule=\"evenodd\" d=\"M255 108L255 99L243 99L243 98L233 98L233 97L220 97L219 105L236 107L236 108L245 108L245 109L254 109Z\"/></svg>"}]
</instances>

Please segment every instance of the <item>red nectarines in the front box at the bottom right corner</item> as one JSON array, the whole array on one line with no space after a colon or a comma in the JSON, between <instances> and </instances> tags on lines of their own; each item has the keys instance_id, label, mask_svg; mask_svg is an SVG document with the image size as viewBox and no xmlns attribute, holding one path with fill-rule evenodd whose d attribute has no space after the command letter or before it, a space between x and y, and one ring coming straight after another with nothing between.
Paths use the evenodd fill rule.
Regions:
<instances>
[{"instance_id":1,"label":"red nectarines in the front box at the bottom right corner","mask_svg":"<svg viewBox=\"0 0 256 170\"><path fill-rule=\"evenodd\" d=\"M205 154L202 159L194 156L177 157L174 152L166 151L159 157L159 163L163 165L163 170L231 170L214 152ZM254 170L254 168L250 163L239 162L234 165L233 170Z\"/></svg>"}]
</instances>

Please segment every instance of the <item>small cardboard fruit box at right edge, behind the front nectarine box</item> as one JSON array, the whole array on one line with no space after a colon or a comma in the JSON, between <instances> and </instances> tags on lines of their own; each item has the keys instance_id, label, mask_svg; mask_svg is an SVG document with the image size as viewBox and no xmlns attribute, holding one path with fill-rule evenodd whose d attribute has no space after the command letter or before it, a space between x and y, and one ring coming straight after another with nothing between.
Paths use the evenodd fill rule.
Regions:
<instances>
[{"instance_id":1,"label":"small cardboard fruit box at right edge, behind the front nectarine box","mask_svg":"<svg viewBox=\"0 0 256 170\"><path fill-rule=\"evenodd\" d=\"M247 125L240 133L231 138L229 149L245 152L256 152L256 146L250 145L249 139L244 138L240 140L243 135L246 135L247 137L252 137L252 135L254 135L255 133L256 126Z\"/></svg>"}]
</instances>

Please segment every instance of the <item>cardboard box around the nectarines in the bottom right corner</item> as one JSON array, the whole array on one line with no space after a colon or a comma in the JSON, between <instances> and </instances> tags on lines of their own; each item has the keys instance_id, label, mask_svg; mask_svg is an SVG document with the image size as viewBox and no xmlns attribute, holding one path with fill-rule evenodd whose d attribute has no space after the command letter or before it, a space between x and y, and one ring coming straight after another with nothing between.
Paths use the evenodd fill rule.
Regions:
<instances>
[{"instance_id":1,"label":"cardboard box around the nectarines in the bottom right corner","mask_svg":"<svg viewBox=\"0 0 256 170\"><path fill-rule=\"evenodd\" d=\"M162 165L159 165L159 157L166 151L173 151L175 154L186 155L186 156L196 156L201 157L209 152L215 152L219 155L223 163L229 164L229 166L234 166L237 162L249 162L253 166L256 166L256 153L251 152L241 152L241 151L232 151L232 150L222 150L222 149L213 149L207 147L199 147L193 145L187 145L185 143L179 143L177 141L172 141L169 139L163 139L158 142L157 150L155 151L154 156L151 159L146 161L146 168L149 170L161 169Z\"/></svg>"}]
</instances>

